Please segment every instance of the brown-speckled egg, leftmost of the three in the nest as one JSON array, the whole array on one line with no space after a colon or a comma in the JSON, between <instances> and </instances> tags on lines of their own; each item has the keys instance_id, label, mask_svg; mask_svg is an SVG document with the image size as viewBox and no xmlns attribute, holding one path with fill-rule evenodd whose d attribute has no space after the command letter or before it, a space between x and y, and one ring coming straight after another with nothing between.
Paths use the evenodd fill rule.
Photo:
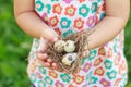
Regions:
<instances>
[{"instance_id":1,"label":"brown-speckled egg, leftmost of the three in the nest","mask_svg":"<svg viewBox=\"0 0 131 87\"><path fill-rule=\"evenodd\" d=\"M53 48L58 52L62 52L64 50L64 41L63 40L58 40L55 42Z\"/></svg>"}]
</instances>

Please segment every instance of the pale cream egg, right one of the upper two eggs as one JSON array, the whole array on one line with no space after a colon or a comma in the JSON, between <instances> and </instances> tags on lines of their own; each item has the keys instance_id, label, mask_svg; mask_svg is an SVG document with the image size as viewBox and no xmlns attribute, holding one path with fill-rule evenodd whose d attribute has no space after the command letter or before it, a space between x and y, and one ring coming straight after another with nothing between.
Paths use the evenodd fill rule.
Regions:
<instances>
[{"instance_id":1,"label":"pale cream egg, right one of the upper two eggs","mask_svg":"<svg viewBox=\"0 0 131 87\"><path fill-rule=\"evenodd\" d=\"M73 52L75 50L75 42L72 40L68 40L64 44L64 51L66 52Z\"/></svg>"}]
</instances>

